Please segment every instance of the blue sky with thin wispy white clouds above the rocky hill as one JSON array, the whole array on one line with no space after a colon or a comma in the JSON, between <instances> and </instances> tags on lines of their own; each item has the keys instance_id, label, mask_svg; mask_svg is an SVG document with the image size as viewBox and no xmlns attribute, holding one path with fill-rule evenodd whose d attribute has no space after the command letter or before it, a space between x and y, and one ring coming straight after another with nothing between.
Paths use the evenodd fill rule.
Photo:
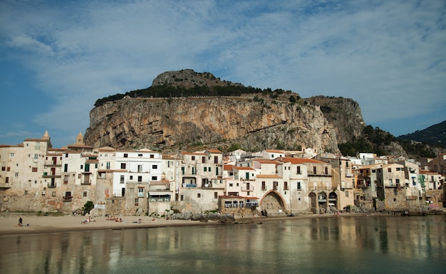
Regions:
<instances>
[{"instance_id":1,"label":"blue sky with thin wispy white clouds above the rocky hill","mask_svg":"<svg viewBox=\"0 0 446 274\"><path fill-rule=\"evenodd\" d=\"M95 100L192 68L356 100L395 136L446 120L445 1L0 1L0 144L72 144Z\"/></svg>"}]
</instances>

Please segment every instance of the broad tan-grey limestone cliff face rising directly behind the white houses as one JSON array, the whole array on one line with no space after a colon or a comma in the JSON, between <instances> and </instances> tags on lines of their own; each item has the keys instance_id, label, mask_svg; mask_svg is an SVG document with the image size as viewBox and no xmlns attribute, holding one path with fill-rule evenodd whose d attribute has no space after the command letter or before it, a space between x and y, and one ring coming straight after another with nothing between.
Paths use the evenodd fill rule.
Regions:
<instances>
[{"instance_id":1,"label":"broad tan-grey limestone cliff face rising directly behind the white houses","mask_svg":"<svg viewBox=\"0 0 446 274\"><path fill-rule=\"evenodd\" d=\"M178 151L314 147L338 152L337 129L314 105L252 97L124 98L90 111L85 144Z\"/></svg>"}]
</instances>

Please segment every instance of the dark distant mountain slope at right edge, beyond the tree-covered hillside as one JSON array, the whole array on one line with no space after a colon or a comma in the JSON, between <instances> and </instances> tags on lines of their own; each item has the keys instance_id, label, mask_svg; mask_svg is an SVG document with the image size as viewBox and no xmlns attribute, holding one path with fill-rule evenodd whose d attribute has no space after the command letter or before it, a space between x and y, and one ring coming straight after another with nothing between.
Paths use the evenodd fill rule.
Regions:
<instances>
[{"instance_id":1,"label":"dark distant mountain slope at right edge, beyond the tree-covered hillside","mask_svg":"<svg viewBox=\"0 0 446 274\"><path fill-rule=\"evenodd\" d=\"M408 135L401 135L397 139L410 139L427 144L440 144L442 147L446 147L446 120L440 122L440 124L427 127L425 130L417 130Z\"/></svg>"}]
</instances>

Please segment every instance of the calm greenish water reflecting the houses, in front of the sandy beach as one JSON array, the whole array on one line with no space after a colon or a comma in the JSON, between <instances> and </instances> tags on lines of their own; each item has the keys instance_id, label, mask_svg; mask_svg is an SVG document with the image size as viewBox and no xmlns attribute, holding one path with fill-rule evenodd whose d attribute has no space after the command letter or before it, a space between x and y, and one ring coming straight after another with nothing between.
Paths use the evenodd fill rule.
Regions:
<instances>
[{"instance_id":1,"label":"calm greenish water reflecting the houses, in front of the sandy beach","mask_svg":"<svg viewBox=\"0 0 446 274\"><path fill-rule=\"evenodd\" d=\"M446 216L7 236L0 273L446 273Z\"/></svg>"}]
</instances>

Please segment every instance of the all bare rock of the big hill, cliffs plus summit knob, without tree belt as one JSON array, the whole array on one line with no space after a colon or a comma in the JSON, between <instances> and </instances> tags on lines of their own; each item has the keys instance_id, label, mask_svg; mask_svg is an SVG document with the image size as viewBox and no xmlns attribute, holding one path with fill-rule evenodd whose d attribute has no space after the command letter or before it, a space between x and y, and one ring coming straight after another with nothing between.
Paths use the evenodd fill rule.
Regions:
<instances>
[{"instance_id":1,"label":"all bare rock of the big hill, cliffs plus summit knob, without tree belt","mask_svg":"<svg viewBox=\"0 0 446 274\"><path fill-rule=\"evenodd\" d=\"M230 86L212 73L162 73L152 86ZM290 98L297 98L290 100ZM322 111L321 111L322 107ZM326 110L332 110L327 112ZM312 147L338 153L338 143L361 134L358 103L343 98L300 99L296 93L252 93L234 97L130 98L105 102L90 111L85 144L116 149L297 150Z\"/></svg>"}]
</instances>

